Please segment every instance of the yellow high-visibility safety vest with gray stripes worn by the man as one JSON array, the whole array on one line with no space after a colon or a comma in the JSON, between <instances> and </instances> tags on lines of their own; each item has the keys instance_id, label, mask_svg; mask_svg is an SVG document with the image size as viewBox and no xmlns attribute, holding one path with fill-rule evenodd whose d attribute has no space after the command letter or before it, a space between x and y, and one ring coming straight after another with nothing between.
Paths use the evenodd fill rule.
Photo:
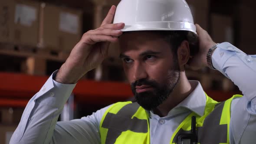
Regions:
<instances>
[{"instance_id":1,"label":"yellow high-visibility safety vest with gray stripes worn by the man","mask_svg":"<svg viewBox=\"0 0 256 144\"><path fill-rule=\"evenodd\" d=\"M180 134L190 133L191 117L196 117L197 141L200 144L230 144L230 107L233 98L217 102L206 95L204 115L192 112L174 131L170 144ZM150 144L149 115L138 103L118 102L112 105L100 123L102 144Z\"/></svg>"}]
</instances>

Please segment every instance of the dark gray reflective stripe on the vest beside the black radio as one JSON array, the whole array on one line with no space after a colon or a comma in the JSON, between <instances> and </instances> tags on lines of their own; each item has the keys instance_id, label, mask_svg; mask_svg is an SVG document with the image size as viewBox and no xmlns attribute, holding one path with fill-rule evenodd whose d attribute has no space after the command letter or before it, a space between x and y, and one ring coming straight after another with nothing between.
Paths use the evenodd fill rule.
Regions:
<instances>
[{"instance_id":1,"label":"dark gray reflective stripe on the vest beside the black radio","mask_svg":"<svg viewBox=\"0 0 256 144\"><path fill-rule=\"evenodd\" d=\"M204 119L203 127L197 127L198 143L200 144L220 144L227 143L227 124L220 125L220 118L225 101L215 105L214 110ZM188 134L190 131L180 129L173 139L177 143L180 134Z\"/></svg>"}]
</instances>

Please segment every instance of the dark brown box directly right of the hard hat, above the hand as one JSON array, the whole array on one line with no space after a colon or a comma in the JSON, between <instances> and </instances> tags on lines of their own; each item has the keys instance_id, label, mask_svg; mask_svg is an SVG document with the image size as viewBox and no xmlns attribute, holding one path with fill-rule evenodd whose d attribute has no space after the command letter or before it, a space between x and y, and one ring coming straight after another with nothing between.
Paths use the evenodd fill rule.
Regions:
<instances>
[{"instance_id":1,"label":"dark brown box directly right of the hard hat, above the hand","mask_svg":"<svg viewBox=\"0 0 256 144\"><path fill-rule=\"evenodd\" d=\"M186 0L190 7L194 23L208 31L209 0Z\"/></svg>"}]
</instances>

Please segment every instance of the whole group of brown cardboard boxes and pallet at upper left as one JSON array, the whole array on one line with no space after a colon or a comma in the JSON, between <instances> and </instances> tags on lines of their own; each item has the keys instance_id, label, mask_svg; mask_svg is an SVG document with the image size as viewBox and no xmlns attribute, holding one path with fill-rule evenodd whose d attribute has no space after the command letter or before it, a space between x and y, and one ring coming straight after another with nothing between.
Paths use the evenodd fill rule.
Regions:
<instances>
[{"instance_id":1,"label":"whole group of brown cardboard boxes and pallet at upper left","mask_svg":"<svg viewBox=\"0 0 256 144\"><path fill-rule=\"evenodd\" d=\"M64 62L81 32L80 10L30 0L0 1L0 49L26 57L19 72L45 75L46 61Z\"/></svg>"}]
</instances>

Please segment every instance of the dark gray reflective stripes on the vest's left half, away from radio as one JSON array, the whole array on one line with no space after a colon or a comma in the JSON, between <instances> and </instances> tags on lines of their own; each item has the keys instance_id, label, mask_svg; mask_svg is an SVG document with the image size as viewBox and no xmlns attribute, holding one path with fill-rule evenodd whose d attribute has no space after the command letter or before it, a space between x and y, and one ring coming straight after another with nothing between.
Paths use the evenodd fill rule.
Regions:
<instances>
[{"instance_id":1,"label":"dark gray reflective stripes on the vest's left half, away from radio","mask_svg":"<svg viewBox=\"0 0 256 144\"><path fill-rule=\"evenodd\" d=\"M108 112L102 123L102 128L108 128L105 144L114 144L123 131L148 132L147 120L141 120L136 117L131 119L139 107L140 105L136 102L125 105L117 114Z\"/></svg>"}]
</instances>

